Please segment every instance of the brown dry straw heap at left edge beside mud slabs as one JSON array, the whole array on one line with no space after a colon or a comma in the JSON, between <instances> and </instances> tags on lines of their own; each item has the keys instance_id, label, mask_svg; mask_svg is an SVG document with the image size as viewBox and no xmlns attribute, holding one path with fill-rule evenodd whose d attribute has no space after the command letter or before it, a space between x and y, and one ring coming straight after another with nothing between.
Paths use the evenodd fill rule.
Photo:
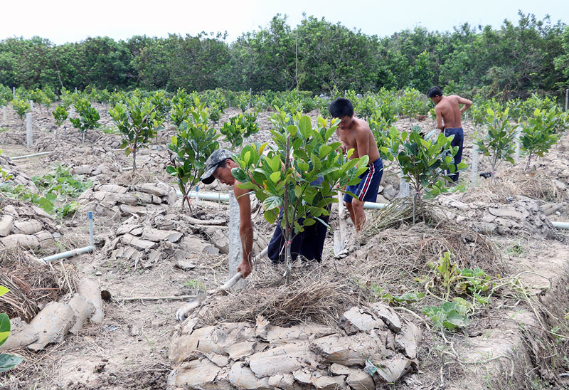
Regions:
<instances>
[{"instance_id":1,"label":"brown dry straw heap at left edge beside mud slabs","mask_svg":"<svg viewBox=\"0 0 569 390\"><path fill-rule=\"evenodd\" d=\"M10 290L0 297L0 312L30 322L48 302L76 290L73 266L46 265L21 250L0 251L0 285Z\"/></svg>"}]
</instances>

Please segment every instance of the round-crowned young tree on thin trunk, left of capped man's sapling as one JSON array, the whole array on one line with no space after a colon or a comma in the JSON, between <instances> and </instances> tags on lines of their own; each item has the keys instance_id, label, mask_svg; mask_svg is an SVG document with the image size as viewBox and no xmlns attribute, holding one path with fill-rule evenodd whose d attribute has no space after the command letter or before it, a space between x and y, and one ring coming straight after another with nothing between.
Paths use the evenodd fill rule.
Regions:
<instances>
[{"instance_id":1,"label":"round-crowned young tree on thin trunk, left of capped man's sapling","mask_svg":"<svg viewBox=\"0 0 569 390\"><path fill-rule=\"evenodd\" d=\"M127 156L132 154L132 169L137 170L137 151L149 139L156 137L164 117L159 105L149 97L127 97L125 103L118 103L109 110L112 121L122 135L121 149Z\"/></svg>"}]
</instances>

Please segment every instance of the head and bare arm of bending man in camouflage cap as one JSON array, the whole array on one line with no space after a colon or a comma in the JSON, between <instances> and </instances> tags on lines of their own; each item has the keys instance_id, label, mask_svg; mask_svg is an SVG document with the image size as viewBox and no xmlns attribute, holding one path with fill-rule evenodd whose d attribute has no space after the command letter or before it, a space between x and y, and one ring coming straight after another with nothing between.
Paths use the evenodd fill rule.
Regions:
<instances>
[{"instance_id":1,"label":"head and bare arm of bending man in camouflage cap","mask_svg":"<svg viewBox=\"0 0 569 390\"><path fill-rule=\"evenodd\" d=\"M243 248L243 260L237 266L237 270L245 279L253 269L253 224L251 221L251 201L249 199L250 190L238 187L240 182L235 180L235 177L231 174L231 169L237 168L238 165L231 157L233 157L233 153L227 149L215 150L206 161L206 171L201 175L201 181L204 184L211 184L215 179L218 179L223 184L233 186L233 194L235 194L239 204L239 236Z\"/></svg>"}]
</instances>

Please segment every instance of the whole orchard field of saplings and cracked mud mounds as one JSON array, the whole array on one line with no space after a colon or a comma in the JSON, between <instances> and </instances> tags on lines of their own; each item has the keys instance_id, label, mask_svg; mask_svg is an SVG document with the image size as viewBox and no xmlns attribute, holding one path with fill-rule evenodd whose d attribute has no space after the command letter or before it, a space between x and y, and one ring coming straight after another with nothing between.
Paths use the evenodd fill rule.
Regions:
<instances>
[{"instance_id":1,"label":"whole orchard field of saplings and cracked mud mounds","mask_svg":"<svg viewBox=\"0 0 569 390\"><path fill-rule=\"evenodd\" d=\"M450 186L456 151L413 88L0 92L0 312L11 322L0 350L23 358L0 372L1 389L569 386L569 118L557 100L475 98ZM252 196L258 254L287 155L306 162L290 169L307 182L317 164L343 185L358 173L323 147L337 141L328 105L339 96L376 137L385 207L356 235L334 203L322 263L260 258L245 288L177 321L182 296L228 279L228 203L194 196L196 184L212 199L230 192L198 183L208 155L233 150L243 182L265 184ZM295 186L287 196L302 199ZM89 212L94 250L42 260L90 245Z\"/></svg>"}]
</instances>

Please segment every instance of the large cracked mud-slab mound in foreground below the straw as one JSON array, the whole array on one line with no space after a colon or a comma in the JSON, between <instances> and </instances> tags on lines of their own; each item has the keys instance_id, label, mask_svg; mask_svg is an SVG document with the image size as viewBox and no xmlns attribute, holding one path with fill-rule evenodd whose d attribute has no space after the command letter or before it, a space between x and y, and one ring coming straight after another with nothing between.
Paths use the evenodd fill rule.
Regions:
<instances>
[{"instance_id":1,"label":"large cracked mud-slab mound in foreground below the straw","mask_svg":"<svg viewBox=\"0 0 569 390\"><path fill-rule=\"evenodd\" d=\"M184 389L383 389L418 368L421 332L379 302L351 307L339 329L225 322L176 330L169 386ZM363 367L371 371L366 373Z\"/></svg>"}]
</instances>

